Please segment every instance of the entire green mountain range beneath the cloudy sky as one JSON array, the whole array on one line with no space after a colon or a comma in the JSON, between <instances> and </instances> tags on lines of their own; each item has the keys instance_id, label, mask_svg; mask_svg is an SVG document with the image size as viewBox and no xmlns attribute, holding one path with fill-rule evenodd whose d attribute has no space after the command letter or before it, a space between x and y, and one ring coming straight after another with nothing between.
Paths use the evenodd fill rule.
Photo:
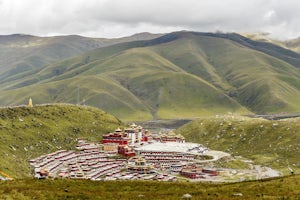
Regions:
<instances>
[{"instance_id":1,"label":"entire green mountain range beneath the cloudy sky","mask_svg":"<svg viewBox=\"0 0 300 200\"><path fill-rule=\"evenodd\" d=\"M123 120L296 112L299 40L173 32L0 37L0 104L79 103Z\"/></svg>"}]
</instances>

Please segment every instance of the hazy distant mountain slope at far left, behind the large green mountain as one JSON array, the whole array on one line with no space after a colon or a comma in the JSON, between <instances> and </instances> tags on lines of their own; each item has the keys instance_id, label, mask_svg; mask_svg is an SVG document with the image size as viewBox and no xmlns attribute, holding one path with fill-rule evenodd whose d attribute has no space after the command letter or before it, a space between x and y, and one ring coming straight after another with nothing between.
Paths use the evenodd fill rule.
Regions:
<instances>
[{"instance_id":1,"label":"hazy distant mountain slope at far left, behind the large green mountain","mask_svg":"<svg viewBox=\"0 0 300 200\"><path fill-rule=\"evenodd\" d=\"M15 81L46 65L112 44L153 39L160 34L140 33L118 39L86 38L77 35L36 37L0 36L0 83Z\"/></svg>"}]
</instances>

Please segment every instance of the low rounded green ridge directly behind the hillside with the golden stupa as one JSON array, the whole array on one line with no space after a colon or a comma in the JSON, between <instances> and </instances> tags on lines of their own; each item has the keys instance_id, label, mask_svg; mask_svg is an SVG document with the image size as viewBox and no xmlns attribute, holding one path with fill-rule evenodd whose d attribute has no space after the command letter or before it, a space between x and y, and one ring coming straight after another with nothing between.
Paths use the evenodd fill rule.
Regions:
<instances>
[{"instance_id":1,"label":"low rounded green ridge directly behind the hillside with the golden stupa","mask_svg":"<svg viewBox=\"0 0 300 200\"><path fill-rule=\"evenodd\" d=\"M96 83L96 84L95 84ZM119 118L146 120L151 118L149 110L128 90L111 79L105 77L81 77L52 82L48 84L28 86L21 91L3 91L3 95L10 99L2 100L10 105L24 104L26 99L32 97L37 104L45 102L69 102L76 104L78 96L80 103L105 108L106 111ZM79 94L79 95L78 95ZM29 96L30 95L30 96Z\"/></svg>"}]
</instances>

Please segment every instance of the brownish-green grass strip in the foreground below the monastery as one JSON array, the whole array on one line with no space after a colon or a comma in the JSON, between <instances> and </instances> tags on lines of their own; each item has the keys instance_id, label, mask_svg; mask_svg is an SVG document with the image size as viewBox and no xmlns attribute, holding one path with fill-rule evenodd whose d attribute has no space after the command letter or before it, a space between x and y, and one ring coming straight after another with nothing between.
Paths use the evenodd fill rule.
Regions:
<instances>
[{"instance_id":1,"label":"brownish-green grass strip in the foreground below the monastery","mask_svg":"<svg viewBox=\"0 0 300 200\"><path fill-rule=\"evenodd\" d=\"M234 184L154 181L16 180L0 183L2 199L298 199L300 176Z\"/></svg>"}]
</instances>

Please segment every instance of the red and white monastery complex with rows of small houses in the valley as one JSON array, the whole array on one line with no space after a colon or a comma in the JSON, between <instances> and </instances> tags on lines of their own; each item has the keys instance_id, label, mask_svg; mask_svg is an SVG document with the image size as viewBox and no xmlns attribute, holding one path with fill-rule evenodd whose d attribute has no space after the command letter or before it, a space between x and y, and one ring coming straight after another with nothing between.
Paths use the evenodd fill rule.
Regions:
<instances>
[{"instance_id":1,"label":"red and white monastery complex with rows of small houses in the valley","mask_svg":"<svg viewBox=\"0 0 300 200\"><path fill-rule=\"evenodd\" d=\"M76 150L30 160L36 178L176 181L218 179L224 170L204 167L229 154L188 143L173 131L151 133L132 124L103 135L99 143L78 139Z\"/></svg>"}]
</instances>

